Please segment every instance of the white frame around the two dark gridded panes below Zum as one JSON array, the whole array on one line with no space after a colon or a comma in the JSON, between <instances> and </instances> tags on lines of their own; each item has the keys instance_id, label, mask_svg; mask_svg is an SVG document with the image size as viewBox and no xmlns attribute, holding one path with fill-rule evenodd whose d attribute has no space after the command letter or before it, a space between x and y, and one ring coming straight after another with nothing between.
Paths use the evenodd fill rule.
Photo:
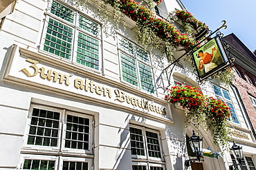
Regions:
<instances>
[{"instance_id":1,"label":"white frame around the two dark gridded panes below Zum","mask_svg":"<svg viewBox=\"0 0 256 170\"><path fill-rule=\"evenodd\" d=\"M33 109L46 109L48 111L56 111L60 112L60 125L59 125L59 131L58 131L58 140L57 140L57 147L51 147L51 146L42 146L42 145L28 145L28 136L29 136L29 131L30 131L30 123L31 123L31 118L33 114ZM84 149L72 149L72 148L66 148L64 147L65 145L65 129L66 129L66 117L67 115L72 115L72 116L80 116L82 118L89 118L89 149L84 150ZM24 135L24 145L23 149L32 149L32 150L43 150L43 151L62 151L62 153L79 153L79 154L93 154L93 116L89 114L80 114L75 111L66 111L65 109L56 109L54 107L47 107L43 105L31 105L29 109L29 114L28 114L28 120L26 124L26 131Z\"/></svg>"}]
</instances>

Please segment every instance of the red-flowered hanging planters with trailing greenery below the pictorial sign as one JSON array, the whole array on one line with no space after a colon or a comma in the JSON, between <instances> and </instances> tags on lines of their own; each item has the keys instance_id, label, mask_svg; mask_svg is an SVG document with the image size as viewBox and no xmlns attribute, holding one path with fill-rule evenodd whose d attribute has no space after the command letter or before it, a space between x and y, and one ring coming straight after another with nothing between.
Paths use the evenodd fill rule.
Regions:
<instances>
[{"instance_id":1,"label":"red-flowered hanging planters with trailing greenery below the pictorial sign","mask_svg":"<svg viewBox=\"0 0 256 170\"><path fill-rule=\"evenodd\" d=\"M187 125L193 123L197 129L200 126L210 129L216 145L228 146L230 108L226 103L205 97L198 88L183 84L168 89L165 100L184 109Z\"/></svg>"}]
</instances>

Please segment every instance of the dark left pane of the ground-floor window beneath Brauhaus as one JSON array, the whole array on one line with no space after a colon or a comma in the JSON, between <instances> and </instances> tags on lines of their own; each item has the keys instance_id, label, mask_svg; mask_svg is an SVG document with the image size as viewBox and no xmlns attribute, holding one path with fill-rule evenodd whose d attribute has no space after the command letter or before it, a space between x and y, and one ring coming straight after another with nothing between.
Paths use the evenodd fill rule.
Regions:
<instances>
[{"instance_id":1,"label":"dark left pane of the ground-floor window beneath Brauhaus","mask_svg":"<svg viewBox=\"0 0 256 170\"><path fill-rule=\"evenodd\" d=\"M143 132L141 129L130 127L131 133L131 154L145 156Z\"/></svg>"}]
</instances>

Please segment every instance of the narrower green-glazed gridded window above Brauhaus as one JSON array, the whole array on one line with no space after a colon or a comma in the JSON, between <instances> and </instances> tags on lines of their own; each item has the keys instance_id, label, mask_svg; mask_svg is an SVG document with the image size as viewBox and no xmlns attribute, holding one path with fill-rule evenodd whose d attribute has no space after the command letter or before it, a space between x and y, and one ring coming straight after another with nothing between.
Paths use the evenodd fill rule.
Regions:
<instances>
[{"instance_id":1,"label":"narrower green-glazed gridded window above Brauhaus","mask_svg":"<svg viewBox=\"0 0 256 170\"><path fill-rule=\"evenodd\" d=\"M152 67L149 54L131 41L119 37L120 63L122 80L154 93Z\"/></svg>"}]
</instances>

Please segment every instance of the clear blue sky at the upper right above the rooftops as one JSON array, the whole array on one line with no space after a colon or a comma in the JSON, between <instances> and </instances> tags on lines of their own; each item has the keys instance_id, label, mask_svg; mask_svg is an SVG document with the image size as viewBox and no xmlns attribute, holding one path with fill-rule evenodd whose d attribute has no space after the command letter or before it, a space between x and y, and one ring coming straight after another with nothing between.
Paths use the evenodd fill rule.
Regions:
<instances>
[{"instance_id":1,"label":"clear blue sky at the upper right above the rooftops","mask_svg":"<svg viewBox=\"0 0 256 170\"><path fill-rule=\"evenodd\" d=\"M188 12L203 21L210 30L221 28L224 36L234 33L250 50L256 49L256 0L181 0Z\"/></svg>"}]
</instances>

